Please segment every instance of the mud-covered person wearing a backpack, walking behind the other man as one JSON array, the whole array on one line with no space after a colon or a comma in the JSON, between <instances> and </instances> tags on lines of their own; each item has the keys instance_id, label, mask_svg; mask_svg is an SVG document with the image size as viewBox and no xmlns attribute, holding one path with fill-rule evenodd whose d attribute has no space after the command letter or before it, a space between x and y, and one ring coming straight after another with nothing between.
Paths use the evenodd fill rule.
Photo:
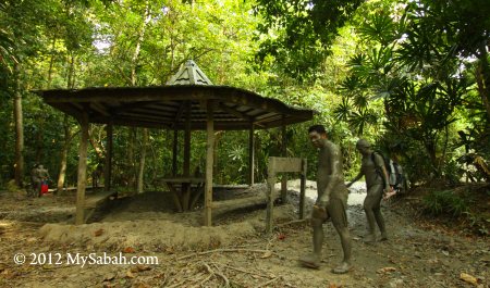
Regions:
<instances>
[{"instance_id":1,"label":"mud-covered person wearing a backpack, walking behind the other man","mask_svg":"<svg viewBox=\"0 0 490 288\"><path fill-rule=\"evenodd\" d=\"M365 242L376 241L375 222L378 224L381 233L379 240L388 240L384 220L381 214L381 200L383 193L388 195L391 190L384 161L381 155L373 153L370 147L371 145L365 139L357 141L356 148L363 155L360 172L347 184L347 187L351 187L351 185L359 180L363 176L366 178L367 196L364 200L364 211L366 212L369 231L364 238Z\"/></svg>"}]
</instances>

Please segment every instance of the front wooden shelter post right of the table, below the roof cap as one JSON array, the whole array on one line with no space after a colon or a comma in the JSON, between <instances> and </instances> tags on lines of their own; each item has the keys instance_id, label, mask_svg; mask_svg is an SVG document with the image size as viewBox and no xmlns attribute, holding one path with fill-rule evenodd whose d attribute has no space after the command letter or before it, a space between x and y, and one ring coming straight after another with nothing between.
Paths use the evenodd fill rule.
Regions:
<instances>
[{"instance_id":1,"label":"front wooden shelter post right of the table, below the roof cap","mask_svg":"<svg viewBox=\"0 0 490 288\"><path fill-rule=\"evenodd\" d=\"M206 226L211 226L212 210L212 161L215 150L215 120L212 100L207 104L207 142L206 142L206 186L205 186L205 220Z\"/></svg>"}]
</instances>

